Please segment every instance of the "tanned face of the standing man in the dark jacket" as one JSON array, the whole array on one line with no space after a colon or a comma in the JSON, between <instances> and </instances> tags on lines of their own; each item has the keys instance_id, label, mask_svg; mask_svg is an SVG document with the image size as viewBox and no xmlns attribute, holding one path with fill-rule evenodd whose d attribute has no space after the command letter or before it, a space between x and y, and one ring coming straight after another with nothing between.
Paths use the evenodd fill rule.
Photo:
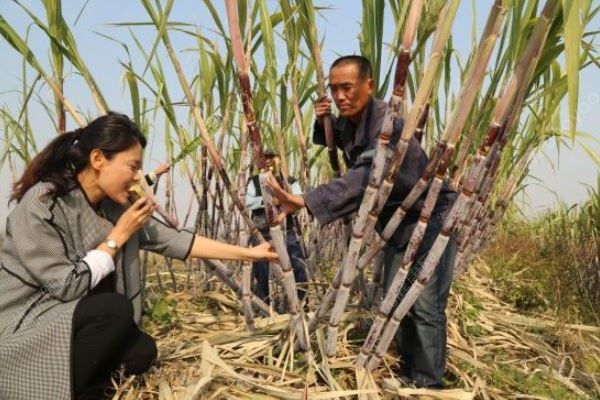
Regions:
<instances>
[{"instance_id":1,"label":"tanned face of the standing man in the dark jacket","mask_svg":"<svg viewBox=\"0 0 600 400\"><path fill-rule=\"evenodd\" d=\"M361 78L354 64L342 64L329 71L329 89L340 116L358 122L373 93L373 79Z\"/></svg>"}]
</instances>

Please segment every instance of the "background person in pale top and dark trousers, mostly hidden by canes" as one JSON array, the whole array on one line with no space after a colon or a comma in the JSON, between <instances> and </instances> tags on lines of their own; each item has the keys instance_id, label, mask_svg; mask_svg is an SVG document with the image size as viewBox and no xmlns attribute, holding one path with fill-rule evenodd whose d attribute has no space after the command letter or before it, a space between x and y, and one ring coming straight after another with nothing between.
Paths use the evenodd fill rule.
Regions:
<instances>
[{"instance_id":1,"label":"background person in pale top and dark trousers, mostly hidden by canes","mask_svg":"<svg viewBox=\"0 0 600 400\"><path fill-rule=\"evenodd\" d=\"M264 151L265 162L267 168L273 172L274 176L283 182L283 176L279 173L280 159L277 153L273 150L267 149ZM300 194L302 189L296 179L291 176L288 177L288 182L292 187L292 193ZM256 224L256 227L263 235L266 240L271 238L269 233L269 224L265 213L265 205L263 203L262 191L260 189L260 182L258 175L254 175L248 181L246 187L246 207L250 210L251 218ZM300 246L298 236L294 231L294 221L292 216L288 215L284 220L286 231L286 246L290 261L292 263L292 269L294 271L294 279L296 284L305 284L306 279L306 260L304 252ZM255 245L258 243L254 243ZM269 303L269 262L268 261L256 261L252 263L252 276L256 279L256 285L254 286L254 294L260 299ZM306 293L306 288L298 289L298 299L302 300Z\"/></svg>"}]
</instances>

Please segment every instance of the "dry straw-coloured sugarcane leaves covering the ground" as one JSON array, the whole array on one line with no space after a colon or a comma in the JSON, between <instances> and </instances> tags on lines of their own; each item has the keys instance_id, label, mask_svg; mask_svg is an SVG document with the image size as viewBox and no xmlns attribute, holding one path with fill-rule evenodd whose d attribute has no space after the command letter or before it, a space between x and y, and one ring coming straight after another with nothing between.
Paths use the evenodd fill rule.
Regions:
<instances>
[{"instance_id":1,"label":"dry straw-coloured sugarcane leaves covering the ground","mask_svg":"<svg viewBox=\"0 0 600 400\"><path fill-rule=\"evenodd\" d=\"M239 308L226 306L223 312L217 304L221 299L229 303L233 299L229 294L211 294L207 301L202 296L192 300L185 293L167 293L167 300L178 301L178 318L167 327L147 324L157 339L160 361L150 373L122 380L117 398L167 398L167 385L175 399L304 399L307 394L309 399L365 400L553 398L544 388L558 388L566 398L597 397L600 379L594 373L596 364L589 361L600 358L595 327L518 314L494 296L486 268L480 261L475 263L450 297L450 387L436 392L438 397L390 383L400 378L393 350L372 374L354 368L365 336L364 328L353 327L360 316L357 312L344 314L340 332L345 334L337 346L338 354L345 357L333 361L326 357L322 328L311 336L314 353L306 355L294 352L290 337L282 336L289 330L289 315L256 318L260 333L251 334ZM199 312L197 302L206 302L206 308Z\"/></svg>"}]
</instances>

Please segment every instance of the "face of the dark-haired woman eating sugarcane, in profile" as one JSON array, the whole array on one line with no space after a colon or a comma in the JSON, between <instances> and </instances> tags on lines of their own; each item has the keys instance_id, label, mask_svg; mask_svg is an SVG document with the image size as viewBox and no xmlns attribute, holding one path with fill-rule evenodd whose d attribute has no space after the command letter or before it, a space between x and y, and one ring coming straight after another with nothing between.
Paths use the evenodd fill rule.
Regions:
<instances>
[{"instance_id":1,"label":"face of the dark-haired woman eating sugarcane, in profile","mask_svg":"<svg viewBox=\"0 0 600 400\"><path fill-rule=\"evenodd\" d=\"M129 187L140 181L141 167L142 146L139 143L111 158L104 157L98 169L98 187L105 197L125 205L129 199Z\"/></svg>"}]
</instances>

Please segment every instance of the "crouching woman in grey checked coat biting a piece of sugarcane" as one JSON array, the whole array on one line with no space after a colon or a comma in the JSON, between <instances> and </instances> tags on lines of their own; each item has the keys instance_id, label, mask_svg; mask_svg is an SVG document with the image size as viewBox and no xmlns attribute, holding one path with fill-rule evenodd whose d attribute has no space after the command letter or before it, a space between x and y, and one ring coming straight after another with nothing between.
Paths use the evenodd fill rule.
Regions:
<instances>
[{"instance_id":1,"label":"crouching woman in grey checked coat biting a piece of sugarcane","mask_svg":"<svg viewBox=\"0 0 600 400\"><path fill-rule=\"evenodd\" d=\"M17 205L0 252L0 399L95 397L120 366L145 372L154 340L139 329L138 252L167 257L275 260L152 217L128 189L146 140L109 113L54 139L15 184Z\"/></svg>"}]
</instances>

